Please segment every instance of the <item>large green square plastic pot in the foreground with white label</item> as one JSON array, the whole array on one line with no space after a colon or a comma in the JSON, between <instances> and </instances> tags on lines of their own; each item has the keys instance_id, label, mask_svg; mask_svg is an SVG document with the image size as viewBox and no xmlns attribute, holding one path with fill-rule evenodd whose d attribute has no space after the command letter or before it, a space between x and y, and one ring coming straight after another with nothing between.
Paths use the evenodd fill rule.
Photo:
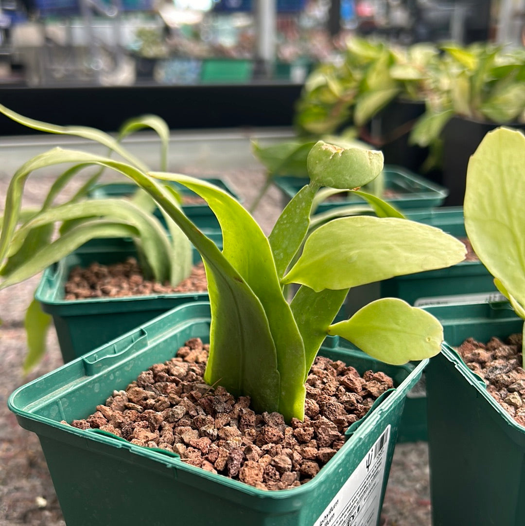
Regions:
<instances>
[{"instance_id":1,"label":"large green square plastic pot in the foreground with white label","mask_svg":"<svg viewBox=\"0 0 525 526\"><path fill-rule=\"evenodd\" d=\"M19 424L38 434L67 525L378 524L405 395L426 361L415 369L387 366L327 339L323 355L361 372L383 370L396 389L356 422L310 482L290 490L256 489L185 464L174 453L60 423L87 417L189 338L208 341L209 326L209 304L176 307L11 395L8 406Z\"/></svg>"}]
</instances>

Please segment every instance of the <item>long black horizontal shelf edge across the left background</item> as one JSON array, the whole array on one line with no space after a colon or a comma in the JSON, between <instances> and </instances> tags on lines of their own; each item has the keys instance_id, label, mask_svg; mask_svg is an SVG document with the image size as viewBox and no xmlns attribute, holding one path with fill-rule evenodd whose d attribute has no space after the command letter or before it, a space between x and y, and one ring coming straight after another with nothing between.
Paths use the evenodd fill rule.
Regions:
<instances>
[{"instance_id":1,"label":"long black horizontal shelf edge across the left background","mask_svg":"<svg viewBox=\"0 0 525 526\"><path fill-rule=\"evenodd\" d=\"M291 126L301 84L191 86L0 86L0 103L24 116L59 125L115 131L146 113L170 129ZM0 135L33 130L0 117Z\"/></svg>"}]
</instances>

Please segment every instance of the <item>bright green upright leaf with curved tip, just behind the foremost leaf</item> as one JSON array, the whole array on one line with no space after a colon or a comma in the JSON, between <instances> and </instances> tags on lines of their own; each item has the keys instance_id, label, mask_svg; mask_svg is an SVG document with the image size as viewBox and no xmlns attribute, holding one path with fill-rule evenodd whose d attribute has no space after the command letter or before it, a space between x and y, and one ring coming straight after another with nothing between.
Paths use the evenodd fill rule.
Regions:
<instances>
[{"instance_id":1,"label":"bright green upright leaf with curved tip, just behind the foremost leaf","mask_svg":"<svg viewBox=\"0 0 525 526\"><path fill-rule=\"evenodd\" d=\"M205 199L217 216L223 235L223 256L259 298L270 326L277 352L277 369L281 379L279 411L286 419L302 414L305 393L303 385L304 346L290 306L282 294L270 243L264 232L248 211L220 188L206 181L179 174L152 173L151 175L159 179L174 180L186 186ZM198 242L191 238L190 240L199 249ZM206 261L207 266L209 262ZM217 281L219 276L216 274L214 279ZM243 305L239 304L238 309L244 309ZM221 358L217 359L217 362L231 363L228 346L231 345L229 340L232 336L226 335L223 328L219 326L219 323L225 322L224 318L230 316L231 313L221 309L214 311L214 315L218 318L216 326L219 328L213 333L213 338L220 339L223 346L215 347L213 352L221 353ZM245 342L250 341L249 346L245 344L242 353L256 352L264 355L266 352L264 342L259 341L256 334L246 333L248 330L249 326L242 327L241 339ZM207 375L205 379L213 383L218 378Z\"/></svg>"}]
</instances>

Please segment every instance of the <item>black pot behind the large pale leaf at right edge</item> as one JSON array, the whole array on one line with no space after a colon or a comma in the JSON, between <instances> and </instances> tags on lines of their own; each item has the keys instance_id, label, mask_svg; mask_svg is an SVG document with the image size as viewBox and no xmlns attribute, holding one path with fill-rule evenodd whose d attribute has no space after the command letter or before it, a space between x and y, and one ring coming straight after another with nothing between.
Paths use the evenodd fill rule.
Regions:
<instances>
[{"instance_id":1,"label":"black pot behind the large pale leaf at right edge","mask_svg":"<svg viewBox=\"0 0 525 526\"><path fill-rule=\"evenodd\" d=\"M455 116L442 132L443 176L442 185L449 193L445 206L462 206L465 197L465 181L470 156L476 151L481 139L492 129L507 126L525 131L525 124L496 124Z\"/></svg>"}]
</instances>

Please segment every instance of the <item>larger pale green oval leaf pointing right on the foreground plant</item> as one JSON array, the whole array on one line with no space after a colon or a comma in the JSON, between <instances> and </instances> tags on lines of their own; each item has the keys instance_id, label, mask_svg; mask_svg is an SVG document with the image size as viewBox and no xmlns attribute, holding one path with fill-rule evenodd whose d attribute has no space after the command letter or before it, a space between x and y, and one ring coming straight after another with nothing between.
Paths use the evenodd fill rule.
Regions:
<instances>
[{"instance_id":1,"label":"larger pale green oval leaf pointing right on the foreground plant","mask_svg":"<svg viewBox=\"0 0 525 526\"><path fill-rule=\"evenodd\" d=\"M465 254L461 241L435 227L396 217L343 217L306 239L301 257L282 282L315 291L346 289L449 267Z\"/></svg>"}]
</instances>

